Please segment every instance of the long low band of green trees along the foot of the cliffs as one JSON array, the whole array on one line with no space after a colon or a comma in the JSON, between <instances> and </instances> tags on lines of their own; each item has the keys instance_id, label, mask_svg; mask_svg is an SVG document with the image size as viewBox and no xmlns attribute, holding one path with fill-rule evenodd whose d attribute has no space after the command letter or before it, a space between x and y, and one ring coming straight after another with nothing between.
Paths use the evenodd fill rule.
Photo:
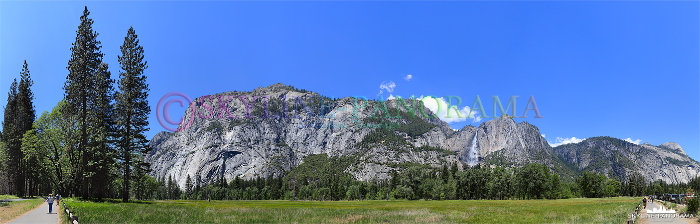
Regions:
<instances>
[{"instance_id":1,"label":"long low band of green trees along the foot of the cliffs","mask_svg":"<svg viewBox=\"0 0 700 224\"><path fill-rule=\"evenodd\" d=\"M309 158L311 158L309 160ZM344 172L339 158L323 160L325 154L309 155L285 176L256 176L227 180L218 176L200 184L200 177L187 176L183 188L172 176L159 178L148 199L156 200L528 200L571 197L617 197L682 194L689 183L645 183L633 174L629 181L608 179L605 174L583 172L573 181L562 181L541 164L519 168L476 165L464 170L456 164L443 167L411 165L392 172L387 179L357 181ZM307 172L311 163L315 172ZM334 169L340 168L340 169ZM300 171L302 169L302 171Z\"/></svg>"}]
</instances>

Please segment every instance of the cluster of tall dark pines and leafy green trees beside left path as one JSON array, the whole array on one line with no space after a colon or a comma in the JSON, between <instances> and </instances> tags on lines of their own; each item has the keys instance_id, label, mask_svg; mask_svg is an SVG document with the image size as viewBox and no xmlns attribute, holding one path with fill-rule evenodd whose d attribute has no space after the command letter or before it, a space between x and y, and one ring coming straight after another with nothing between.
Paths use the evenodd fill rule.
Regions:
<instances>
[{"instance_id":1,"label":"cluster of tall dark pines and leafy green trees beside left path","mask_svg":"<svg viewBox=\"0 0 700 224\"><path fill-rule=\"evenodd\" d=\"M147 178L143 159L150 150L144 132L151 112L144 48L130 27L113 79L89 15L85 7L66 66L64 98L51 111L36 118L26 60L20 82L10 85L0 138L0 194L127 201L155 180Z\"/></svg>"}]
</instances>

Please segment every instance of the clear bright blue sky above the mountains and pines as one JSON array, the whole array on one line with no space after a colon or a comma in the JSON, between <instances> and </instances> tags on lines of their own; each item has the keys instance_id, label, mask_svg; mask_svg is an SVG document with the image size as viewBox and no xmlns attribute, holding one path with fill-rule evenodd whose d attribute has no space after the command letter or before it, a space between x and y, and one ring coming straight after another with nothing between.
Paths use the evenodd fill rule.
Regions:
<instances>
[{"instance_id":1,"label":"clear bright blue sky above the mountains and pines","mask_svg":"<svg viewBox=\"0 0 700 224\"><path fill-rule=\"evenodd\" d=\"M0 1L1 105L24 59L36 110L62 99L84 6L113 76L127 29L139 35L149 138L165 130L155 105L167 92L284 83L333 97L456 95L460 109L479 95L489 116L491 95L519 95L517 116L533 95L544 118L516 121L552 143L673 141L700 160L699 1Z\"/></svg>"}]
</instances>

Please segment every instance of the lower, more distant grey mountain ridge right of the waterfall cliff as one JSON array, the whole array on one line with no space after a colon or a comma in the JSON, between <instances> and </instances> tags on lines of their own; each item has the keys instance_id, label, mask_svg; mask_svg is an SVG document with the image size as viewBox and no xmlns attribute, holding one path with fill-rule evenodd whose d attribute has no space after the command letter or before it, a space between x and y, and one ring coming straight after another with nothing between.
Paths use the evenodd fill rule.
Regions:
<instances>
[{"instance_id":1,"label":"lower, more distant grey mountain ridge right of the waterfall cliff","mask_svg":"<svg viewBox=\"0 0 700 224\"><path fill-rule=\"evenodd\" d=\"M611 137L593 137L578 144L554 148L579 169L628 179L638 173L649 181L688 183L700 172L700 164L689 158L678 144L636 145Z\"/></svg>"}]
</instances>

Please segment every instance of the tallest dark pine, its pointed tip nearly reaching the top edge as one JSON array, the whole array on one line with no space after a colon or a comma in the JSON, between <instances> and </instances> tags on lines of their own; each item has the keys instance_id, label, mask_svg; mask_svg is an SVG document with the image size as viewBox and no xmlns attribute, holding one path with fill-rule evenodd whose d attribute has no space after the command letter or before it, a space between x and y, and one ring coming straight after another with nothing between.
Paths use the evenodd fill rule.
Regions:
<instances>
[{"instance_id":1,"label":"tallest dark pine, its pointed tip nearly reaching the top edge","mask_svg":"<svg viewBox=\"0 0 700 224\"><path fill-rule=\"evenodd\" d=\"M90 146L88 145L88 140L90 133L88 129L91 124L90 109L92 104L92 99L90 99L90 93L92 93L92 87L94 87L95 78L94 76L99 71L99 66L102 64L102 56L104 54L99 49L100 42L97 41L97 32L92 31L92 19L87 18L90 12L83 10L83 15L80 16L80 26L78 26L78 31L76 31L76 42L73 43L71 47L71 59L68 61L69 73L66 77L66 84L64 85L64 98L67 106L67 111L64 113L72 113L76 115L78 119L78 129L80 130L79 141L77 150L80 153L80 166L76 171L76 176L80 178L80 183L82 184L82 189L78 192L78 195L82 195L83 198L89 197L88 195L88 178L90 176L90 170L88 169L88 161L92 160L92 153L90 152Z\"/></svg>"}]
</instances>

